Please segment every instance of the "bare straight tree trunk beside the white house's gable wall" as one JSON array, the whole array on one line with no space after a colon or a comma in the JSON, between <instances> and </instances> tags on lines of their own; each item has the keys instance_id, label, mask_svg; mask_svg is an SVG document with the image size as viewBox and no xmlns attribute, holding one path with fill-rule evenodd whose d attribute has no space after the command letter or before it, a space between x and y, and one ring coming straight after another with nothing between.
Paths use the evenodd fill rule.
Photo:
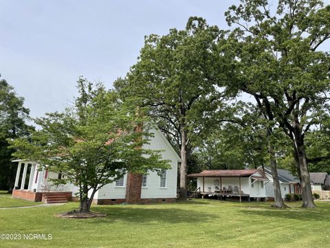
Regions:
<instances>
[{"instance_id":1,"label":"bare straight tree trunk beside the white house's gable wall","mask_svg":"<svg viewBox=\"0 0 330 248\"><path fill-rule=\"evenodd\" d=\"M187 132L181 127L180 198L187 199Z\"/></svg>"}]
</instances>

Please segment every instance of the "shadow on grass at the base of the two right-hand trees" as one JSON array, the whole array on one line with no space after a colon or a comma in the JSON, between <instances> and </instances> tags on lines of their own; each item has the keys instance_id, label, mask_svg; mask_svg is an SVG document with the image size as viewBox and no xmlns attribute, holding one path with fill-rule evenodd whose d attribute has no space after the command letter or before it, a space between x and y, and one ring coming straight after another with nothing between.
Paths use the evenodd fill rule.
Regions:
<instances>
[{"instance_id":1,"label":"shadow on grass at the base of the two right-hand trees","mask_svg":"<svg viewBox=\"0 0 330 248\"><path fill-rule=\"evenodd\" d=\"M242 214L265 216L267 218L285 218L294 220L323 220L330 221L329 206L318 206L316 209L303 209L301 207L276 209L274 207L245 207L240 210Z\"/></svg>"}]
</instances>

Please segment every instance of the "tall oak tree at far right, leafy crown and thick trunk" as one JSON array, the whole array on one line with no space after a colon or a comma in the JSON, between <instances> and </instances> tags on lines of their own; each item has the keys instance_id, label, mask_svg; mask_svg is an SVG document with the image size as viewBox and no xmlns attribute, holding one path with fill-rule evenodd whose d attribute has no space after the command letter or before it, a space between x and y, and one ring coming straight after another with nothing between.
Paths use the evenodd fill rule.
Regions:
<instances>
[{"instance_id":1,"label":"tall oak tree at far right, leafy crown and thick trunk","mask_svg":"<svg viewBox=\"0 0 330 248\"><path fill-rule=\"evenodd\" d=\"M232 59L231 87L247 92L292 140L301 178L303 207L311 195L305 134L329 113L330 57L320 47L330 38L330 6L318 0L242 0L226 13L237 28L226 56Z\"/></svg>"}]
</instances>

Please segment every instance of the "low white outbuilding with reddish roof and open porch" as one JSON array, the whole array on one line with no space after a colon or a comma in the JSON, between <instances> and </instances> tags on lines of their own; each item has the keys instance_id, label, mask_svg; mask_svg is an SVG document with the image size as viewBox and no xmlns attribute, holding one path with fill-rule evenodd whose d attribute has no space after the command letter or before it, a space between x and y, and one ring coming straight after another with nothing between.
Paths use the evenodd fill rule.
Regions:
<instances>
[{"instance_id":1,"label":"low white outbuilding with reddish roof and open porch","mask_svg":"<svg viewBox=\"0 0 330 248\"><path fill-rule=\"evenodd\" d=\"M268 178L259 169L214 169L190 174L197 178L197 191L201 196L242 198L266 198L265 184Z\"/></svg>"}]
</instances>

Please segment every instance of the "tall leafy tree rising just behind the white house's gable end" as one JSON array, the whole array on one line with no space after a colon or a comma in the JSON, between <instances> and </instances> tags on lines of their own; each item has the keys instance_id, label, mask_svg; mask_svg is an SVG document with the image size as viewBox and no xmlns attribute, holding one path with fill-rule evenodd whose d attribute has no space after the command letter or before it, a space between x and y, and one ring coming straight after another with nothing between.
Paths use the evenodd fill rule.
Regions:
<instances>
[{"instance_id":1,"label":"tall leafy tree rising just behind the white house's gable end","mask_svg":"<svg viewBox=\"0 0 330 248\"><path fill-rule=\"evenodd\" d=\"M219 56L214 50L223 33L201 18L186 29L145 38L140 57L115 87L126 101L148 106L162 131L180 146L181 198L187 197L187 152L201 123L219 112Z\"/></svg>"}]
</instances>

